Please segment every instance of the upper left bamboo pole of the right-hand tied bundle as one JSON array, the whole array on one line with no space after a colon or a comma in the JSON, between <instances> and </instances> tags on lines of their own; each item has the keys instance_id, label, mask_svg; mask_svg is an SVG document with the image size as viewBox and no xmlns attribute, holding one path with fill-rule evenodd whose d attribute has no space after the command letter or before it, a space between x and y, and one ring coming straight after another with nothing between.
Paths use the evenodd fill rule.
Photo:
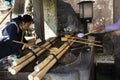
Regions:
<instances>
[{"instance_id":1,"label":"upper left bamboo pole of the right-hand tied bundle","mask_svg":"<svg viewBox=\"0 0 120 80\"><path fill-rule=\"evenodd\" d=\"M60 54L60 52L61 52L65 47L67 47L68 45L69 45L68 42L64 43L58 50L52 51L51 54L54 54L54 55L57 56L57 55ZM36 65L36 66L34 67L34 70L35 70L36 72L42 70L42 69L43 69L46 65L48 65L49 62L51 62L53 59L54 59L54 56L53 56L53 55L49 55L44 61L42 61L40 64Z\"/></svg>"}]
</instances>

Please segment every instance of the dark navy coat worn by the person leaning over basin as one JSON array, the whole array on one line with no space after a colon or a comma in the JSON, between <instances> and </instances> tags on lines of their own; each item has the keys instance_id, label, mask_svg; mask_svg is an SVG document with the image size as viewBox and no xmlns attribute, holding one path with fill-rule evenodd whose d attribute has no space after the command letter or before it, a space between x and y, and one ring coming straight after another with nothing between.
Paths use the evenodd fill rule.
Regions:
<instances>
[{"instance_id":1,"label":"dark navy coat worn by the person leaning over basin","mask_svg":"<svg viewBox=\"0 0 120 80\"><path fill-rule=\"evenodd\" d=\"M12 21L16 22L17 25L20 24L18 18L13 19ZM13 40L21 41L23 37L22 36L23 31L20 28L18 31L18 28L16 27L15 24L10 24L6 26L6 30L10 39L0 44L0 59L10 54L16 54L22 48L21 44L13 42ZM23 38L23 42L26 42L25 38Z\"/></svg>"}]
</instances>

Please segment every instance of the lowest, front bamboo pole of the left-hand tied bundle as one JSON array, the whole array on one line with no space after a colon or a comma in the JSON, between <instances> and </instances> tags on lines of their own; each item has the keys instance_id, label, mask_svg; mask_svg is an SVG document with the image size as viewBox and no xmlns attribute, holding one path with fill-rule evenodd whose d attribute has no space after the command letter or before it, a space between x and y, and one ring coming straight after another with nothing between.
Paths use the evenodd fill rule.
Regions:
<instances>
[{"instance_id":1,"label":"lowest, front bamboo pole of the left-hand tied bundle","mask_svg":"<svg viewBox=\"0 0 120 80\"><path fill-rule=\"evenodd\" d=\"M53 42L55 43L55 42ZM36 55L39 56L42 54L42 52L44 52L46 49L48 49L51 45L46 46L46 48L40 50ZM27 64L29 64L31 61L33 61L35 59L35 56L31 56L30 58L28 58L27 60L23 61L21 64L14 66L11 68L11 74L15 75L17 72L19 72L23 67L25 67Z\"/></svg>"}]
</instances>

